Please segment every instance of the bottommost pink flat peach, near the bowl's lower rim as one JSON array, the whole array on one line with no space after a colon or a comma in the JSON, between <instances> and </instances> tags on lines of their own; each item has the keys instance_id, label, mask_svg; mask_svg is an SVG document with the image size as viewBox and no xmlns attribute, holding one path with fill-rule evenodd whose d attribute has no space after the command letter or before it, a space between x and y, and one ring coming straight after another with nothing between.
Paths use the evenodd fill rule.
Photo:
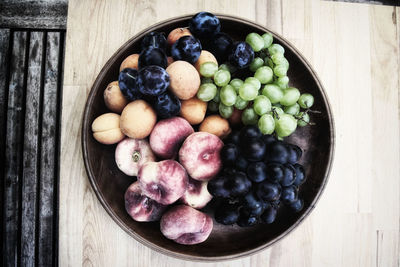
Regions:
<instances>
[{"instance_id":1,"label":"bottommost pink flat peach, near the bowl's lower rim","mask_svg":"<svg viewBox=\"0 0 400 267\"><path fill-rule=\"evenodd\" d=\"M163 235L183 245L204 242L213 228L211 217L186 205L178 205L161 217L160 229Z\"/></svg>"}]
</instances>

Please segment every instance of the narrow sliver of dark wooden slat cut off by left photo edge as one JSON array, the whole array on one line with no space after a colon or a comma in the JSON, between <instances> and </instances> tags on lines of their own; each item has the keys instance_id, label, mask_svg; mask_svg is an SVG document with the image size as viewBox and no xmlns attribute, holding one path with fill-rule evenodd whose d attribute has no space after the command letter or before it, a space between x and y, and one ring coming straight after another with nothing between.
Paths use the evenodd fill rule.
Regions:
<instances>
[{"instance_id":1,"label":"narrow sliver of dark wooden slat cut off by left photo edge","mask_svg":"<svg viewBox=\"0 0 400 267\"><path fill-rule=\"evenodd\" d=\"M9 68L10 30L0 29L0 158L5 157L6 114L7 114L7 85ZM4 164L0 166L0 222L4 217ZM3 228L2 228L3 229ZM0 231L0 240L3 240L3 231ZM3 242L0 242L0 251L3 251Z\"/></svg>"}]
</instances>

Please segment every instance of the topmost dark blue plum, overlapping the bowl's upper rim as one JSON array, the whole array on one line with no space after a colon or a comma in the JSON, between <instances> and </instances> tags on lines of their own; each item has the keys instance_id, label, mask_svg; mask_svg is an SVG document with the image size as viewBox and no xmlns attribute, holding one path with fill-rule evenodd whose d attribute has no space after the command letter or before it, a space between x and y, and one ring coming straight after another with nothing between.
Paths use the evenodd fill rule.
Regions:
<instances>
[{"instance_id":1,"label":"topmost dark blue plum, overlapping the bowl's upper rim","mask_svg":"<svg viewBox=\"0 0 400 267\"><path fill-rule=\"evenodd\" d=\"M190 32L198 37L211 38L221 30L219 19L209 12L199 12L189 21Z\"/></svg>"}]
</instances>

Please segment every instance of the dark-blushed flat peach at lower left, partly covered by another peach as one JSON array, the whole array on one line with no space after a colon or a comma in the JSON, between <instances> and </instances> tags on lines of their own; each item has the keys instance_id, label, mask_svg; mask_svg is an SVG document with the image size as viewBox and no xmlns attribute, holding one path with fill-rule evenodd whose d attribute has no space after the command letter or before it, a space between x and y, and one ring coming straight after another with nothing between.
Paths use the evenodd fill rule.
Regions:
<instances>
[{"instance_id":1,"label":"dark-blushed flat peach at lower left, partly covered by another peach","mask_svg":"<svg viewBox=\"0 0 400 267\"><path fill-rule=\"evenodd\" d=\"M153 222L161 219L167 206L143 195L139 182L131 184L125 192L125 210L138 222Z\"/></svg>"}]
</instances>

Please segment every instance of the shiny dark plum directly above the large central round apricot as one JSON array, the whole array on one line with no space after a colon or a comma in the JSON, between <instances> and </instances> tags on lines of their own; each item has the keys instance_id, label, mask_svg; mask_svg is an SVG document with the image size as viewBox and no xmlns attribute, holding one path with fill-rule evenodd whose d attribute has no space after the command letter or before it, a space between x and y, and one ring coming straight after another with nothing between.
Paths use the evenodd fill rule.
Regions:
<instances>
[{"instance_id":1,"label":"shiny dark plum directly above the large central round apricot","mask_svg":"<svg viewBox=\"0 0 400 267\"><path fill-rule=\"evenodd\" d=\"M182 36L171 48L174 60L184 60L194 64L200 57L201 43L193 36Z\"/></svg>"}]
</instances>

